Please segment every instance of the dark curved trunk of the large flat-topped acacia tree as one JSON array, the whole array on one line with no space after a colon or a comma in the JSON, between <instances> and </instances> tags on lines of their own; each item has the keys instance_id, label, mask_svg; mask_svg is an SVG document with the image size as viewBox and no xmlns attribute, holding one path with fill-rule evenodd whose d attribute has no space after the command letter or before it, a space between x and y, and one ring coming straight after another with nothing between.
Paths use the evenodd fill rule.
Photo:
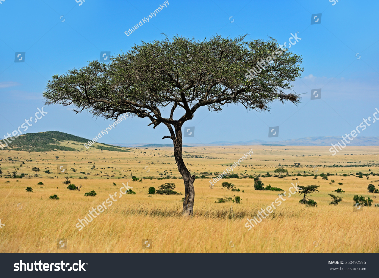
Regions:
<instances>
[{"instance_id":1,"label":"dark curved trunk of the large flat-topped acacia tree","mask_svg":"<svg viewBox=\"0 0 379 278\"><path fill-rule=\"evenodd\" d=\"M188 171L183 158L182 158L182 148L183 148L183 137L182 137L182 127L175 126L176 138L174 141L174 157L178 170L183 176L185 196L183 202L183 216L193 215L193 203L195 199L195 190L193 188L193 182L195 181L195 175L191 176Z\"/></svg>"}]
</instances>

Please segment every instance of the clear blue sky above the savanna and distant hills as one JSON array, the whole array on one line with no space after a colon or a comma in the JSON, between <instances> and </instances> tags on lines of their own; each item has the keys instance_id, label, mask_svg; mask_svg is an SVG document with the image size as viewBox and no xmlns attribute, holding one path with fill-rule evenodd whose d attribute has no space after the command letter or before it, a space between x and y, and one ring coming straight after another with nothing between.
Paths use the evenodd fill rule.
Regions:
<instances>
[{"instance_id":1,"label":"clear blue sky above the savanna and distant hills","mask_svg":"<svg viewBox=\"0 0 379 278\"><path fill-rule=\"evenodd\" d=\"M248 34L246 39L272 36L287 44L290 33L299 32L301 38L290 49L303 58L304 73L294 82L294 90L304 94L301 104L273 103L271 111L264 113L247 112L241 106L224 107L220 113L202 109L185 125L195 126L195 137L185 137L184 143L343 135L379 109L379 2L374 0L169 0L166 8L130 36L124 32L164 1L1 3L1 137L17 129L25 118L34 118L37 107L44 105L42 93L53 74L99 60L100 51L114 55L141 40L163 39L161 33L196 39L216 34L231 38ZM311 25L312 14L319 13L321 23ZM25 62L15 63L15 52L25 52ZM321 99L310 100L316 88L322 89ZM85 112L75 115L60 105L47 106L44 111L49 114L27 132L56 130L93 138L110 123ZM168 135L166 126L153 130L148 123L147 119L127 118L100 142L172 143L161 140ZM279 126L279 137L268 138L271 126ZM378 126L360 136L377 136Z\"/></svg>"}]
</instances>

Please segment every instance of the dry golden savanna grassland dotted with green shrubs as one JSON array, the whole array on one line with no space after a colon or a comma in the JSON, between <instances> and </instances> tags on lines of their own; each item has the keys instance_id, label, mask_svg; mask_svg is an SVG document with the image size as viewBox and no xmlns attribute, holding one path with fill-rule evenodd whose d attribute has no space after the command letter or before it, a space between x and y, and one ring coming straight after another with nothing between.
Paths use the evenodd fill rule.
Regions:
<instances>
[{"instance_id":1,"label":"dry golden savanna grassland dotted with green shrubs","mask_svg":"<svg viewBox=\"0 0 379 278\"><path fill-rule=\"evenodd\" d=\"M6 225L0 229L0 251L379 251L379 207L374 206L379 198L373 197L379 194L367 190L370 183L379 188L379 176L373 175L379 173L379 147L348 146L336 156L330 155L329 147L185 147L185 163L191 173L199 177L194 183L195 207L191 218L181 216L184 195L148 194L150 186L158 189L167 182L175 183L175 191L184 192L172 148L129 150L112 152L89 148L81 152L0 152L0 218ZM222 179L211 189L209 180L213 180L211 177L215 176L215 172L223 172L249 150L254 155L233 171L246 178ZM300 165L295 166L294 163ZM57 164L67 164L66 172L57 174ZM329 167L331 165L334 166ZM37 177L31 170L33 167L40 169ZM278 197L278 193L283 193L254 190L254 179L248 176L256 177L267 172L273 175L277 167L287 169L290 175L304 175L304 172L307 175L334 175L330 175L328 180L320 176L316 179L313 176L261 177L265 186L271 185L287 192L291 182L303 186L319 185L319 192L307 196L318 206L299 204L302 198L299 194L284 197L286 201L274 213L247 231L244 226L246 218L255 216L258 209L266 208ZM52 173L45 173L48 170ZM373 174L359 178L357 172ZM17 178L21 174L24 174L23 178ZM16 178L7 175L16 175ZM202 175L205 178L200 178ZM70 177L72 184L81 185L81 190L68 190L63 183L64 176ZM132 176L138 181L132 181ZM171 178L157 179L167 176ZM39 182L43 185L38 185ZM113 205L78 231L75 227L78 218L84 218L92 207L96 208L110 194L119 192L122 182L128 182L136 194L117 198ZM240 191L226 190L221 187L222 182L233 183ZM27 187L31 187L33 192L25 191ZM335 193L337 188L345 193ZM84 196L92 190L96 191L96 196ZM331 193L343 197L340 204L329 205L331 199L328 194ZM54 194L60 199L49 199ZM370 197L372 206L353 212L354 195ZM240 196L240 204L215 203L218 198L234 199L235 196ZM57 239L67 239L67 249L58 250ZM151 250L142 249L143 239L152 240Z\"/></svg>"}]
</instances>

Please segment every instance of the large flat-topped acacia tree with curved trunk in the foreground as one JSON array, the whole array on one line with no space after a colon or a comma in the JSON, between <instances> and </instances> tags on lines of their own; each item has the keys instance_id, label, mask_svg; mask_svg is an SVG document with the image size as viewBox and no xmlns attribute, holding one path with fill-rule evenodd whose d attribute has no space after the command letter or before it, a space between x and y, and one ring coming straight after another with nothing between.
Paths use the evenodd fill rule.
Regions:
<instances>
[{"instance_id":1,"label":"large flat-topped acacia tree with curved trunk in the foreground","mask_svg":"<svg viewBox=\"0 0 379 278\"><path fill-rule=\"evenodd\" d=\"M73 105L76 113L86 110L113 120L128 113L149 118L153 128L166 125L169 135L162 139L174 143L175 162L185 186L183 215L192 215L195 175L182 158L183 124L202 107L220 112L225 104L240 103L248 110L267 111L276 100L299 102L290 82L301 76L301 57L284 51L272 38L244 38L217 35L195 41L174 36L142 42L115 55L109 64L93 61L79 70L54 75L44 92L45 104ZM270 63L249 81L247 69L265 60ZM169 112L162 111L163 115L161 110L167 108Z\"/></svg>"}]
</instances>

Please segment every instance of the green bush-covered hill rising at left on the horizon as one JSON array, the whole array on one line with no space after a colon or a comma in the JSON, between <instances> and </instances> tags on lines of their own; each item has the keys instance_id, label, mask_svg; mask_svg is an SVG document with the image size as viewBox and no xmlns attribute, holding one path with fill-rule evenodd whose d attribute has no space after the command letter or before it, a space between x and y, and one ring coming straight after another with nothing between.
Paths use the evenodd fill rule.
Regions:
<instances>
[{"instance_id":1,"label":"green bush-covered hill rising at left on the horizon","mask_svg":"<svg viewBox=\"0 0 379 278\"><path fill-rule=\"evenodd\" d=\"M14 141L9 143L6 149L25 152L49 152L54 150L80 152L81 150L85 150L84 144L89 141L89 139L60 131L26 133L13 139ZM91 148L112 152L130 152L130 150L124 147L102 143L96 143Z\"/></svg>"}]
</instances>

